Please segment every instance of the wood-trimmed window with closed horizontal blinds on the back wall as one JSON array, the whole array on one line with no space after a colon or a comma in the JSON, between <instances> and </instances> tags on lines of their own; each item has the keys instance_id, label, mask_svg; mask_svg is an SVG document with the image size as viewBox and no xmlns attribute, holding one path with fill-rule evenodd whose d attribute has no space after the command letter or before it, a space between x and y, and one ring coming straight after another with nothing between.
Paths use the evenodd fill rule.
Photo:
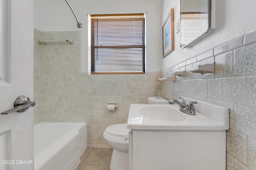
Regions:
<instances>
[{"instance_id":1,"label":"wood-trimmed window with closed horizontal blinds on the back wall","mask_svg":"<svg viewBox=\"0 0 256 170\"><path fill-rule=\"evenodd\" d=\"M91 15L91 74L144 73L144 14Z\"/></svg>"}]
</instances>

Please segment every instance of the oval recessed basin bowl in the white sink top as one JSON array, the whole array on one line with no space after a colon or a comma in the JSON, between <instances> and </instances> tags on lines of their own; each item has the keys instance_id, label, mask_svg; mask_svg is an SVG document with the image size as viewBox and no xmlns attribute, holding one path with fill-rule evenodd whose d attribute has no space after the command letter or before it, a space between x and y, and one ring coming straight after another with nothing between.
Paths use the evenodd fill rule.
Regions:
<instances>
[{"instance_id":1,"label":"oval recessed basin bowl in the white sink top","mask_svg":"<svg viewBox=\"0 0 256 170\"><path fill-rule=\"evenodd\" d=\"M185 113L168 106L148 106L140 109L140 114L158 121L184 121Z\"/></svg>"}]
</instances>

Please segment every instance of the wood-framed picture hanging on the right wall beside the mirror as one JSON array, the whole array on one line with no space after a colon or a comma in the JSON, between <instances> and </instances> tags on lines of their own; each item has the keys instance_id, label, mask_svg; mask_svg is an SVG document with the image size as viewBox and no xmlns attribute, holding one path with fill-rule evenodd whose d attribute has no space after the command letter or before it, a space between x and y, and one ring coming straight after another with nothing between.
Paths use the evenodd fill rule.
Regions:
<instances>
[{"instance_id":1,"label":"wood-framed picture hanging on the right wall beside the mirror","mask_svg":"<svg viewBox=\"0 0 256 170\"><path fill-rule=\"evenodd\" d=\"M173 8L162 26L163 58L174 51Z\"/></svg>"}]
</instances>

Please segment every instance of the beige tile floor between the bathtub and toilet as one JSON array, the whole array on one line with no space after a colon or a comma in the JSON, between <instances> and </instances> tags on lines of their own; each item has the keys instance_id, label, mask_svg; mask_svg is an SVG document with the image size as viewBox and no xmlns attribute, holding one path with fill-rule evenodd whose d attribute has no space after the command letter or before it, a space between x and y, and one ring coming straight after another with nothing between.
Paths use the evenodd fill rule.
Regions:
<instances>
[{"instance_id":1,"label":"beige tile floor between the bathtub and toilet","mask_svg":"<svg viewBox=\"0 0 256 170\"><path fill-rule=\"evenodd\" d=\"M110 170L113 149L87 148L76 170Z\"/></svg>"}]
</instances>

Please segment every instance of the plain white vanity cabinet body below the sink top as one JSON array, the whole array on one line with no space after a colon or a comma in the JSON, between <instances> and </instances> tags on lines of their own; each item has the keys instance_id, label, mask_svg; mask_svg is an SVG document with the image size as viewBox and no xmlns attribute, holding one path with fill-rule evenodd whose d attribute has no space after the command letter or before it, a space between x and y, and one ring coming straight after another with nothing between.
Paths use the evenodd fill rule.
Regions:
<instances>
[{"instance_id":1,"label":"plain white vanity cabinet body below the sink top","mask_svg":"<svg viewBox=\"0 0 256 170\"><path fill-rule=\"evenodd\" d=\"M226 130L132 129L129 138L129 170L226 170Z\"/></svg>"}]
</instances>

